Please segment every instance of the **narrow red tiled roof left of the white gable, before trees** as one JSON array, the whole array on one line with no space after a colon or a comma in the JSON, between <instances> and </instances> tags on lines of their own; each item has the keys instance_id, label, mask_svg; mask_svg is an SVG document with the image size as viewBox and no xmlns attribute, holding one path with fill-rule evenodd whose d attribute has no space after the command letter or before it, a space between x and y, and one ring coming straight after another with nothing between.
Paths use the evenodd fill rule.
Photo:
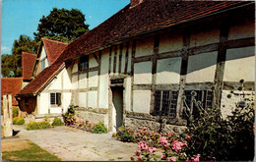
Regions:
<instances>
[{"instance_id":1,"label":"narrow red tiled roof left of the white gable, before trees","mask_svg":"<svg viewBox=\"0 0 256 162\"><path fill-rule=\"evenodd\" d=\"M36 55L28 52L22 53L22 66L23 66L23 79L31 80L32 79L32 68Z\"/></svg>"}]
</instances>

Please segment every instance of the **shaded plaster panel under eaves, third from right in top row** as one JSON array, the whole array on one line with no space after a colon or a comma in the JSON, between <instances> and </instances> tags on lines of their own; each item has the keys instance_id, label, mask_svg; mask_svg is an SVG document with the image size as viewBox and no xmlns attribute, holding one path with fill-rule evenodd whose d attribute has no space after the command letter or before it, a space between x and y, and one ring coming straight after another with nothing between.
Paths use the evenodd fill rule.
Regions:
<instances>
[{"instance_id":1,"label":"shaded plaster panel under eaves, third from right in top row","mask_svg":"<svg viewBox=\"0 0 256 162\"><path fill-rule=\"evenodd\" d=\"M160 35L159 52L180 50L183 46L182 32L166 32Z\"/></svg>"}]
</instances>

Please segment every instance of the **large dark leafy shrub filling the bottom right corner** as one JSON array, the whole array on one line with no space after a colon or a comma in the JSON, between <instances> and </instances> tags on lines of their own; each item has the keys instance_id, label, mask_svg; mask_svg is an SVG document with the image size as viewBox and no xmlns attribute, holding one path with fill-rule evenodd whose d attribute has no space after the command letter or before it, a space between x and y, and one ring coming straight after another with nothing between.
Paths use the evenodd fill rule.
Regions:
<instances>
[{"instance_id":1,"label":"large dark leafy shrub filling the bottom right corner","mask_svg":"<svg viewBox=\"0 0 256 162\"><path fill-rule=\"evenodd\" d=\"M190 157L216 157L218 161L252 161L254 158L254 103L237 104L226 120L221 109L204 110L199 106L199 117L188 118L188 142L186 154ZM189 109L189 108L188 108ZM191 115L191 114L190 114Z\"/></svg>"}]
</instances>

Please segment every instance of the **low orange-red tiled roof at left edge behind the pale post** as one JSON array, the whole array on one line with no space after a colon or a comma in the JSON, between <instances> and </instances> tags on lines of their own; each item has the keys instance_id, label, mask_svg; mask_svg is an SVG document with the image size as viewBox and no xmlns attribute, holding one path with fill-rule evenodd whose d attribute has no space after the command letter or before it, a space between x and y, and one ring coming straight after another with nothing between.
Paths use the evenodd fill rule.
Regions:
<instances>
[{"instance_id":1,"label":"low orange-red tiled roof at left edge behind the pale post","mask_svg":"<svg viewBox=\"0 0 256 162\"><path fill-rule=\"evenodd\" d=\"M21 90L23 78L2 78L1 79L1 97L4 94L12 94L13 105L18 105L15 95Z\"/></svg>"}]
</instances>

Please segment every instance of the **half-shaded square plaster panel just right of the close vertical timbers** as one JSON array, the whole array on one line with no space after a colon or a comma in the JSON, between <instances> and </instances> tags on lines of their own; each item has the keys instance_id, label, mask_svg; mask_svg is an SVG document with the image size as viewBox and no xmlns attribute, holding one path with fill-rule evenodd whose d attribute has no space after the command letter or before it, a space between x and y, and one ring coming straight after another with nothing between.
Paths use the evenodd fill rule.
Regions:
<instances>
[{"instance_id":1,"label":"half-shaded square plaster panel just right of the close vertical timbers","mask_svg":"<svg viewBox=\"0 0 256 162\"><path fill-rule=\"evenodd\" d=\"M152 62L134 64L134 84L152 82Z\"/></svg>"}]
</instances>

